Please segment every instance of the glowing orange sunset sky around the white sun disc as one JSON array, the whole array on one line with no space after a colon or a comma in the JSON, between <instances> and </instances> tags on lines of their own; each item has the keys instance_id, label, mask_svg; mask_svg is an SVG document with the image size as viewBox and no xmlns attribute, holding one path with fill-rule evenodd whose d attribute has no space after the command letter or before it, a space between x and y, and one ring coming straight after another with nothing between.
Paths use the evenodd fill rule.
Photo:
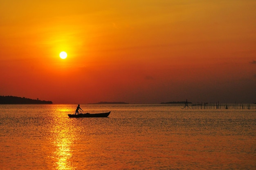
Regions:
<instances>
[{"instance_id":1,"label":"glowing orange sunset sky around the white sun disc","mask_svg":"<svg viewBox=\"0 0 256 170\"><path fill-rule=\"evenodd\" d=\"M255 9L255 0L1 0L0 95L256 102Z\"/></svg>"}]
</instances>

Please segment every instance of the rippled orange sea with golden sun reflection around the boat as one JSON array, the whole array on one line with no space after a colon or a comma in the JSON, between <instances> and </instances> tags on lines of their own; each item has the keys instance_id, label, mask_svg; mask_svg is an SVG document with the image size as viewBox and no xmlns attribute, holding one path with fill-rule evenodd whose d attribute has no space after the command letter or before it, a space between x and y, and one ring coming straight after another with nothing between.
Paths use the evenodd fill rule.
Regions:
<instances>
[{"instance_id":1,"label":"rippled orange sea with golden sun reflection around the boat","mask_svg":"<svg viewBox=\"0 0 256 170\"><path fill-rule=\"evenodd\" d=\"M255 170L256 108L0 105L0 170Z\"/></svg>"}]
</instances>

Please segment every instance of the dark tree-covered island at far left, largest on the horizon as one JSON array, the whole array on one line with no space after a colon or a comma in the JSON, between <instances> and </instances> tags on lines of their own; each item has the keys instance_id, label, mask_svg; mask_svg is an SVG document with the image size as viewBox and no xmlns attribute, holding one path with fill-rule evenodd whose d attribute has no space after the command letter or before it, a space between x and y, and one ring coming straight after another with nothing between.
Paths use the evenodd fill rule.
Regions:
<instances>
[{"instance_id":1,"label":"dark tree-covered island at far left, largest on the horizon","mask_svg":"<svg viewBox=\"0 0 256 170\"><path fill-rule=\"evenodd\" d=\"M52 101L41 101L16 96L0 96L0 104L52 104Z\"/></svg>"}]
</instances>

